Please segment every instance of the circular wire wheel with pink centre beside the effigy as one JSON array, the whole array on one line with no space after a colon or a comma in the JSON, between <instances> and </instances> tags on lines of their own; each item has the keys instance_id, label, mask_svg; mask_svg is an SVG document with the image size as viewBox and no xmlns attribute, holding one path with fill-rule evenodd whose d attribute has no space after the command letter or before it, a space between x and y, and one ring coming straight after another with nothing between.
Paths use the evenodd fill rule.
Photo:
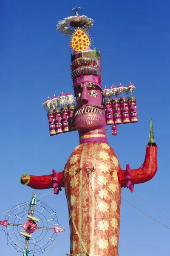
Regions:
<instances>
[{"instance_id":1,"label":"circular wire wheel with pink centre beside the effigy","mask_svg":"<svg viewBox=\"0 0 170 256\"><path fill-rule=\"evenodd\" d=\"M35 192L31 201L9 210L0 225L3 225L7 244L11 244L23 256L43 253L54 241L57 233L64 231L59 227L56 212L37 200Z\"/></svg>"}]
</instances>

